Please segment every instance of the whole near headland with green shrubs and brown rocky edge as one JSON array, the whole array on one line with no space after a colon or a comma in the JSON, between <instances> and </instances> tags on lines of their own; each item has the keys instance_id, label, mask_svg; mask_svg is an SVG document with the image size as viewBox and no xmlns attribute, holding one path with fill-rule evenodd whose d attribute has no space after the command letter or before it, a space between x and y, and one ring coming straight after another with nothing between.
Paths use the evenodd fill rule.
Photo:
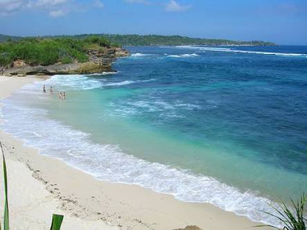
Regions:
<instances>
[{"instance_id":1,"label":"whole near headland with green shrubs and brown rocky edge","mask_svg":"<svg viewBox=\"0 0 307 230\"><path fill-rule=\"evenodd\" d=\"M52 76L112 72L113 60L128 55L121 46L102 37L25 38L0 44L0 73L3 76Z\"/></svg>"}]
</instances>

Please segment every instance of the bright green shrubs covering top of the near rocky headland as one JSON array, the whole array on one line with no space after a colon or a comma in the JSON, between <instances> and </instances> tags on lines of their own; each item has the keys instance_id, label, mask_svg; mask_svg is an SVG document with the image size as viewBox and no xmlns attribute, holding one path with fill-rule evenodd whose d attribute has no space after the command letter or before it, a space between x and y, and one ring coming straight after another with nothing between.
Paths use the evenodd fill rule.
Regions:
<instances>
[{"instance_id":1,"label":"bright green shrubs covering top of the near rocky headland","mask_svg":"<svg viewBox=\"0 0 307 230\"><path fill-rule=\"evenodd\" d=\"M28 37L0 43L0 67L8 67L15 60L24 60L29 65L49 65L61 62L87 62L88 49L109 48L111 42L105 37L89 36L74 38Z\"/></svg>"}]
</instances>

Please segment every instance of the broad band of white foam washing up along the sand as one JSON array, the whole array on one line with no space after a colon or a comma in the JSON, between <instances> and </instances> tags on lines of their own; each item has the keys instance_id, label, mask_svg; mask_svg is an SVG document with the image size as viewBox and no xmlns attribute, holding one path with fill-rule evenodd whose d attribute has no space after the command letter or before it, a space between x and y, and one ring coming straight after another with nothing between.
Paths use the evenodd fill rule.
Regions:
<instances>
[{"instance_id":1,"label":"broad band of white foam washing up along the sand","mask_svg":"<svg viewBox=\"0 0 307 230\"><path fill-rule=\"evenodd\" d=\"M23 139L26 145L40 149L41 154L62 159L70 166L107 182L137 184L159 193L171 194L185 202L209 202L226 211L247 215L254 221L279 224L274 218L259 211L274 213L268 204L270 200L258 197L252 191L240 191L190 170L138 159L125 154L118 145L94 143L90 134L47 118L45 109L28 105L31 100L37 100L33 90L36 88L39 91L40 86L41 82L26 86L3 100L4 106L0 112L4 120L1 128Z\"/></svg>"}]
</instances>

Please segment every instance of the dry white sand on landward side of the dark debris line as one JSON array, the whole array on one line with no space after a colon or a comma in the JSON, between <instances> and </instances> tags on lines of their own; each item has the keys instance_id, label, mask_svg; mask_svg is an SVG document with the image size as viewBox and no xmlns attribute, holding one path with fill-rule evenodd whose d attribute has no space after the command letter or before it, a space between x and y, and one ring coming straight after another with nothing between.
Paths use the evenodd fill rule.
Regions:
<instances>
[{"instance_id":1,"label":"dry white sand on landward side of the dark debris line","mask_svg":"<svg viewBox=\"0 0 307 230\"><path fill-rule=\"evenodd\" d=\"M5 78L0 77L1 94L4 98L14 89L22 85L37 80L36 78ZM3 141L1 136L0 141ZM4 141L6 142L6 141ZM10 146L12 147L12 146ZM7 149L7 148L6 148ZM8 155L8 152L6 152ZM7 156L9 158L10 156ZM34 179L32 172L19 161L6 160L8 170L8 191L9 191L9 211L10 228L14 229L50 229L52 214L64 215L61 229L105 229L115 230L118 227L109 227L103 221L87 221L72 217L70 213L60 209L60 201L56 199L45 185ZM2 161L0 162L2 169ZM0 213L3 213L4 191L3 172L1 170L1 190L0 190ZM1 221L3 223L3 220Z\"/></svg>"}]
</instances>

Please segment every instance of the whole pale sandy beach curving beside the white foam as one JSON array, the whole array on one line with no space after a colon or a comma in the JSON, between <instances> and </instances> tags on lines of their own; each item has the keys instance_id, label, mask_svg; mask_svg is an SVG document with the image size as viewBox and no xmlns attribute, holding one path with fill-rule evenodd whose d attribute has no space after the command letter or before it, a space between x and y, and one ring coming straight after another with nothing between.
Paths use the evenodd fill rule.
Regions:
<instances>
[{"instance_id":1,"label":"whole pale sandy beach curving beside the white foam","mask_svg":"<svg viewBox=\"0 0 307 230\"><path fill-rule=\"evenodd\" d=\"M42 79L0 77L0 100L37 80ZM197 225L240 230L258 224L211 204L180 202L140 186L98 181L1 130L0 141L8 165L11 229L49 229L52 213L64 215L62 229L170 230ZM3 195L0 208L2 213Z\"/></svg>"}]
</instances>

